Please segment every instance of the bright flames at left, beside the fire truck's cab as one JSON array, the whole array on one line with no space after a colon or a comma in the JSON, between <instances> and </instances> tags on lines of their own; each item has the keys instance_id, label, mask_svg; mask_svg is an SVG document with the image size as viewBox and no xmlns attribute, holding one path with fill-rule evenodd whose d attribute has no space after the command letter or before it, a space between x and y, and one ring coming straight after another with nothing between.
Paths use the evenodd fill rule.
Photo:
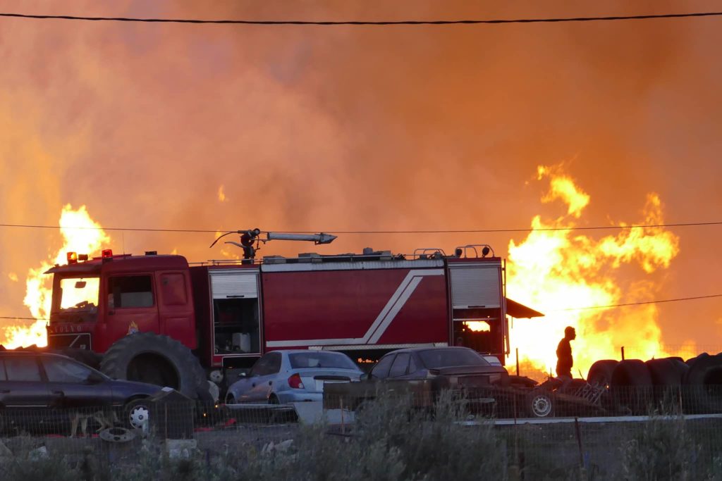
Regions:
<instances>
[{"instance_id":1,"label":"bright flames at left, beside the fire truck's cab","mask_svg":"<svg viewBox=\"0 0 722 481\"><path fill-rule=\"evenodd\" d=\"M90 219L85 206L80 206L77 210L73 210L70 204L64 206L60 214L59 225L63 236L63 246L55 255L49 256L48 260L42 262L40 267L31 268L27 272L26 292L23 302L36 320L30 326L6 327L3 342L6 348L17 348L32 344L38 346L48 345L45 325L47 323L46 319L50 317L53 281L51 275L43 273L55 264L65 264L66 252L72 251L96 255L103 244L110 242L110 237L100 228L100 224ZM70 297L73 295L72 289L67 289L66 292L68 294L64 298L68 297L68 299L64 299L64 304L73 303L73 299Z\"/></svg>"}]
</instances>

